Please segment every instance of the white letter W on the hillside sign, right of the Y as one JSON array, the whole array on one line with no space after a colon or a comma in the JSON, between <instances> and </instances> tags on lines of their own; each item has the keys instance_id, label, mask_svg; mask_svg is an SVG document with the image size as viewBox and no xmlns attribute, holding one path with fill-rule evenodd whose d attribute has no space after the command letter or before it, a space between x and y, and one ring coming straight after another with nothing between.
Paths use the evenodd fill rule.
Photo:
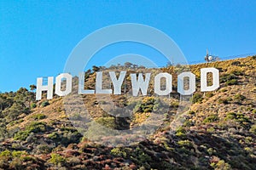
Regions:
<instances>
[{"instance_id":1,"label":"white letter W on the hillside sign, right of the Y","mask_svg":"<svg viewBox=\"0 0 256 170\"><path fill-rule=\"evenodd\" d=\"M139 73L138 80L136 74L131 74L131 87L132 95L137 96L139 90L141 89L143 95L147 95L148 83L151 73L146 73L145 81L143 80L143 73Z\"/></svg>"}]
</instances>

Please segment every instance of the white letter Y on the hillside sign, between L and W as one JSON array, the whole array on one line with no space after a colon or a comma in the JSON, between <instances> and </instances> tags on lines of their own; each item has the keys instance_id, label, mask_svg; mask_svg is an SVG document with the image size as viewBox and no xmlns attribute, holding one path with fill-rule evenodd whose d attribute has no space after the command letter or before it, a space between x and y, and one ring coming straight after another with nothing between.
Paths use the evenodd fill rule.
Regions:
<instances>
[{"instance_id":1,"label":"white letter Y on the hillside sign, between L and W","mask_svg":"<svg viewBox=\"0 0 256 170\"><path fill-rule=\"evenodd\" d=\"M125 79L126 71L121 71L119 79L116 78L114 71L109 71L111 81L113 82L113 94L121 94L121 87Z\"/></svg>"}]
</instances>

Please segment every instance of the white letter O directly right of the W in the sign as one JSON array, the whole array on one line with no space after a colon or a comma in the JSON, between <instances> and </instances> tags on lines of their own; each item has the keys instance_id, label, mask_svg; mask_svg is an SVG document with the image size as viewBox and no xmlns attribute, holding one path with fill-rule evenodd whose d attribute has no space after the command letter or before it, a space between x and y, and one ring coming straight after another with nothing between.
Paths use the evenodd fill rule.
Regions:
<instances>
[{"instance_id":1,"label":"white letter O directly right of the W in the sign","mask_svg":"<svg viewBox=\"0 0 256 170\"><path fill-rule=\"evenodd\" d=\"M166 79L166 89L161 90L160 87L160 79L165 78ZM164 72L159 73L154 77L154 93L158 95L167 95L172 92L172 75Z\"/></svg>"}]
</instances>

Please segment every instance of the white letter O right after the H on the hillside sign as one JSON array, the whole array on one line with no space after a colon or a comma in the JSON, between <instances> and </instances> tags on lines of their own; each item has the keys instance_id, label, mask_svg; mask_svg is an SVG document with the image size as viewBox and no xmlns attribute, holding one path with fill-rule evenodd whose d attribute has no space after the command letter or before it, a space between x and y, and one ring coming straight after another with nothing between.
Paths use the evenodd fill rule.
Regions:
<instances>
[{"instance_id":1,"label":"white letter O right after the H on the hillside sign","mask_svg":"<svg viewBox=\"0 0 256 170\"><path fill-rule=\"evenodd\" d=\"M66 79L66 89L64 91L61 91L61 80ZM58 94L59 96L65 96L67 94L70 94L72 91L72 76L68 73L61 73L59 76L55 79L55 94Z\"/></svg>"}]
</instances>

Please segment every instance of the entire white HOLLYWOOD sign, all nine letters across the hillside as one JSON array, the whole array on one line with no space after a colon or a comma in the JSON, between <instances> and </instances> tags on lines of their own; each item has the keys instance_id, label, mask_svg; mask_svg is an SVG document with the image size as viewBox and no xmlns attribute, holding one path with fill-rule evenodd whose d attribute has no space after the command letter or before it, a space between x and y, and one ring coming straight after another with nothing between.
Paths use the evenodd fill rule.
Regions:
<instances>
[{"instance_id":1,"label":"entire white HOLLYWOOD sign, all nine letters across the hillside","mask_svg":"<svg viewBox=\"0 0 256 170\"><path fill-rule=\"evenodd\" d=\"M119 77L116 77L115 71L109 71L109 76L113 84L112 89L102 89L102 71L96 72L96 86L95 89L84 89L84 72L79 74L79 94L121 94L121 87L125 80L126 71L120 71ZM212 73L212 85L207 85L207 73ZM144 77L145 78L144 78ZM147 95L148 83L150 81L151 73L135 73L130 74L132 95L137 96L139 91L143 95ZM189 78L189 88L184 89L184 78ZM164 78L166 88L161 89L160 80ZM65 90L61 90L61 81L66 80ZM201 69L201 92L213 91L219 88L219 71L216 68L202 68ZM48 77L48 84L43 85L43 77L37 79L37 93L36 99L42 99L42 92L47 91L47 99L53 98L54 77ZM72 76L68 73L61 73L55 77L55 94L59 96L66 96L72 92ZM177 76L177 93L181 95L190 95L195 92L195 74L192 72L183 72ZM161 72L154 77L154 94L168 95L172 93L172 75L166 72Z\"/></svg>"}]
</instances>

